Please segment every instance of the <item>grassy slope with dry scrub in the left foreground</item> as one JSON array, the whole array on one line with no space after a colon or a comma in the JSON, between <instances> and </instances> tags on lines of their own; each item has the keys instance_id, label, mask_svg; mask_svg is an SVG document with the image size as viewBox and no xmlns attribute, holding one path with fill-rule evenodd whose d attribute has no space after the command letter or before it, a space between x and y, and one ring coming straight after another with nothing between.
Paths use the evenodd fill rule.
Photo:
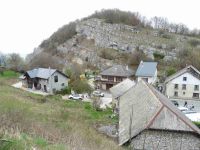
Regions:
<instances>
[{"instance_id":1,"label":"grassy slope with dry scrub in the left foreground","mask_svg":"<svg viewBox=\"0 0 200 150\"><path fill-rule=\"evenodd\" d=\"M111 110L96 112L89 103L62 101L15 89L0 77L0 149L121 149L97 133L96 124L116 120ZM46 101L45 101L46 100Z\"/></svg>"}]
</instances>

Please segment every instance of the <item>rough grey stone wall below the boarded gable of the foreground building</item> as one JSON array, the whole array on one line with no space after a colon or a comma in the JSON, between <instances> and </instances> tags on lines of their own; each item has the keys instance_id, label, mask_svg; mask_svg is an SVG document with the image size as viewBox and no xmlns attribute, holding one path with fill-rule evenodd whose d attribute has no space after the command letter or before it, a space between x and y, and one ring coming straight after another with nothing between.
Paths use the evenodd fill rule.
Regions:
<instances>
[{"instance_id":1,"label":"rough grey stone wall below the boarded gable of the foreground building","mask_svg":"<svg viewBox=\"0 0 200 150\"><path fill-rule=\"evenodd\" d=\"M194 133L146 130L131 141L135 150L200 150L200 137Z\"/></svg>"}]
</instances>

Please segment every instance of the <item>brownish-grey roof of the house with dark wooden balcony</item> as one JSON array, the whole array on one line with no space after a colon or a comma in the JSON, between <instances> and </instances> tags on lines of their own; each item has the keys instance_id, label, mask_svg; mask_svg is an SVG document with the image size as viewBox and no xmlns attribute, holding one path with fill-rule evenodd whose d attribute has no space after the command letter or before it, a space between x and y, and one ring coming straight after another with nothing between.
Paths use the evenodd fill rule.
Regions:
<instances>
[{"instance_id":1,"label":"brownish-grey roof of the house with dark wooden balcony","mask_svg":"<svg viewBox=\"0 0 200 150\"><path fill-rule=\"evenodd\" d=\"M102 71L100 75L130 77L134 75L134 71L128 66L114 65Z\"/></svg>"}]
</instances>

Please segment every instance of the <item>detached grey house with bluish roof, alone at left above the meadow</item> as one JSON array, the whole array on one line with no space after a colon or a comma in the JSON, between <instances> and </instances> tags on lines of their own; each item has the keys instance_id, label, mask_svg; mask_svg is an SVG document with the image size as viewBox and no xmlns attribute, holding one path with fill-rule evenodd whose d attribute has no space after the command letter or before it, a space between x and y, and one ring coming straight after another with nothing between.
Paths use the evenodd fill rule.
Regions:
<instances>
[{"instance_id":1,"label":"detached grey house with bluish roof, alone at left above the meadow","mask_svg":"<svg viewBox=\"0 0 200 150\"><path fill-rule=\"evenodd\" d=\"M22 79L22 86L47 93L55 93L68 86L68 77L56 69L37 68L27 71Z\"/></svg>"}]
</instances>

